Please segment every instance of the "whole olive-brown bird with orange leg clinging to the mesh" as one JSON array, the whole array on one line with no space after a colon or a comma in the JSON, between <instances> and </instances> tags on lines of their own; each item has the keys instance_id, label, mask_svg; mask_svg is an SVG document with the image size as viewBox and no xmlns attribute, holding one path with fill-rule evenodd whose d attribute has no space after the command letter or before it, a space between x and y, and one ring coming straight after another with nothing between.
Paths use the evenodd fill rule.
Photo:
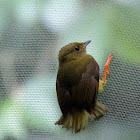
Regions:
<instances>
[{"instance_id":1,"label":"whole olive-brown bird with orange leg clinging to the mesh","mask_svg":"<svg viewBox=\"0 0 140 140\"><path fill-rule=\"evenodd\" d=\"M78 132L88 125L89 118L99 118L107 107L97 101L98 91L106 83L111 55L105 65L103 80L99 80L99 65L86 53L91 41L70 43L59 51L56 91L62 117L55 123Z\"/></svg>"}]
</instances>

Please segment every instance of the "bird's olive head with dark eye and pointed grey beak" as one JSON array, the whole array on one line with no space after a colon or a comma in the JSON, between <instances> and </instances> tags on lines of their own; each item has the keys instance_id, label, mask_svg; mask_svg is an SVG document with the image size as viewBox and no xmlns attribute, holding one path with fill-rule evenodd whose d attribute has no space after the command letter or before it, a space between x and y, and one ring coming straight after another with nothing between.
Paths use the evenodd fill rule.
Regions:
<instances>
[{"instance_id":1,"label":"bird's olive head with dark eye and pointed grey beak","mask_svg":"<svg viewBox=\"0 0 140 140\"><path fill-rule=\"evenodd\" d=\"M79 59L81 56L86 54L86 46L90 42L90 40L81 43L74 42L62 47L59 51L59 63Z\"/></svg>"}]
</instances>

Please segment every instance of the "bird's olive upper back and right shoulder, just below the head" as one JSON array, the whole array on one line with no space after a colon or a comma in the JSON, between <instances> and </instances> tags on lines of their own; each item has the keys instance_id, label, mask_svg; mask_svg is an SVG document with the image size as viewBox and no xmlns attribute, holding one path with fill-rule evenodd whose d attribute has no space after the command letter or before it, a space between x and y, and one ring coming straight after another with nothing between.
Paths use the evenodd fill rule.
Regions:
<instances>
[{"instance_id":1,"label":"bird's olive upper back and right shoulder, just below the head","mask_svg":"<svg viewBox=\"0 0 140 140\"><path fill-rule=\"evenodd\" d=\"M60 66L57 79L62 87L70 88L76 86L86 70L88 70L86 77L89 78L96 71L97 65L94 58L86 54L78 60L73 60Z\"/></svg>"}]
</instances>

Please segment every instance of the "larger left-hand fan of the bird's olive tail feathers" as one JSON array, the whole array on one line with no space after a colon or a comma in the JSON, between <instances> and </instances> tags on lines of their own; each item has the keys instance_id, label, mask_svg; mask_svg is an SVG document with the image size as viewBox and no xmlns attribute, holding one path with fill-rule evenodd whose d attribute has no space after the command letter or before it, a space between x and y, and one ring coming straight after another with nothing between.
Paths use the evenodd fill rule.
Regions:
<instances>
[{"instance_id":1,"label":"larger left-hand fan of the bird's olive tail feathers","mask_svg":"<svg viewBox=\"0 0 140 140\"><path fill-rule=\"evenodd\" d=\"M65 116L62 115L61 118L55 123L55 125L62 125L62 127L66 129L72 128L72 131L77 133L88 125L88 118L89 113L85 109L81 111L73 109Z\"/></svg>"}]
</instances>

